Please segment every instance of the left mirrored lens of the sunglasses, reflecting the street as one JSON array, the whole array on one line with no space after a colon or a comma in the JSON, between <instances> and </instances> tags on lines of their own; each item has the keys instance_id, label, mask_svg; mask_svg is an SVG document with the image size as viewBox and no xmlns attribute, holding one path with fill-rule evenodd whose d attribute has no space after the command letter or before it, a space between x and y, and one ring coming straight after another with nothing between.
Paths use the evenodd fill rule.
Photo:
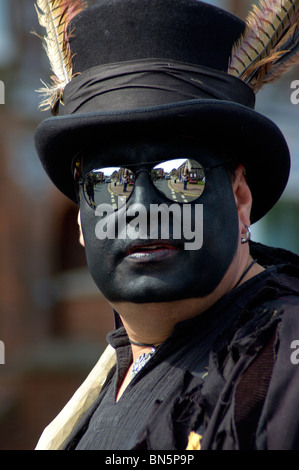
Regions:
<instances>
[{"instance_id":1,"label":"left mirrored lens of the sunglasses, reflecting the street","mask_svg":"<svg viewBox=\"0 0 299 470\"><path fill-rule=\"evenodd\" d=\"M99 204L111 204L116 209L117 198L129 197L132 193L134 179L134 174L126 168L92 170L84 178L84 197L93 209Z\"/></svg>"}]
</instances>

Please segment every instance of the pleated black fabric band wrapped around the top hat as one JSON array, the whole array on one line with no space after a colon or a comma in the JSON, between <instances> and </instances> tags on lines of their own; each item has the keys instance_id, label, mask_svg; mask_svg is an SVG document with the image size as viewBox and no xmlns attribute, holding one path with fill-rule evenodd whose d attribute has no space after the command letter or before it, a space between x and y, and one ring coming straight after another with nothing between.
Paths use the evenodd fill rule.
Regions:
<instances>
[{"instance_id":1,"label":"pleated black fabric band wrapped around the top hat","mask_svg":"<svg viewBox=\"0 0 299 470\"><path fill-rule=\"evenodd\" d=\"M204 66L144 59L93 67L75 77L63 94L59 114L120 111L198 99L255 106L241 80Z\"/></svg>"}]
</instances>

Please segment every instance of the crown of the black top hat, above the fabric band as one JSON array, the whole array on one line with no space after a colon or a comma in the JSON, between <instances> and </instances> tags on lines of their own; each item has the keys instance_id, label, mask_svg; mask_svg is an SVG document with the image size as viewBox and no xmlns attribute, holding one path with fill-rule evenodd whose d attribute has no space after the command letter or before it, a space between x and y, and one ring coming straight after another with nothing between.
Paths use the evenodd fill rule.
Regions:
<instances>
[{"instance_id":1,"label":"crown of the black top hat, above the fabric band","mask_svg":"<svg viewBox=\"0 0 299 470\"><path fill-rule=\"evenodd\" d=\"M101 0L74 18L74 73L101 64L173 59L226 72L245 24L194 0Z\"/></svg>"}]
</instances>

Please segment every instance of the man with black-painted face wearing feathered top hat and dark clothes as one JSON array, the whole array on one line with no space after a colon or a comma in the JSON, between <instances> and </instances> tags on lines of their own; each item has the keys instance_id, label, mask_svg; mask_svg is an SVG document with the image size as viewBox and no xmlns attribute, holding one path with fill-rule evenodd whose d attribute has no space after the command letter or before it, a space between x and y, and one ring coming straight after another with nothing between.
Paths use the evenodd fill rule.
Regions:
<instances>
[{"instance_id":1,"label":"man with black-painted face wearing feathered top hat and dark clothes","mask_svg":"<svg viewBox=\"0 0 299 470\"><path fill-rule=\"evenodd\" d=\"M266 3L262 37L197 0L50 2L54 26L38 3L67 79L36 147L79 204L89 270L115 315L107 351L38 449L299 448L298 257L250 240L290 166L254 91L260 45L270 57L282 41L284 57L299 2Z\"/></svg>"}]
</instances>

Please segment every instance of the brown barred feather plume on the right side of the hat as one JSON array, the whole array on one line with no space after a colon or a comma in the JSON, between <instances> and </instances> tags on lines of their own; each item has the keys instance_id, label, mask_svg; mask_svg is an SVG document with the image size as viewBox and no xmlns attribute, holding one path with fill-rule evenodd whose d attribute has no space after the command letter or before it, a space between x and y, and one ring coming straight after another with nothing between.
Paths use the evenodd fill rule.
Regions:
<instances>
[{"instance_id":1,"label":"brown barred feather plume on the right side of the hat","mask_svg":"<svg viewBox=\"0 0 299 470\"><path fill-rule=\"evenodd\" d=\"M299 64L299 0L260 0L235 44L228 73L256 93Z\"/></svg>"}]
</instances>

